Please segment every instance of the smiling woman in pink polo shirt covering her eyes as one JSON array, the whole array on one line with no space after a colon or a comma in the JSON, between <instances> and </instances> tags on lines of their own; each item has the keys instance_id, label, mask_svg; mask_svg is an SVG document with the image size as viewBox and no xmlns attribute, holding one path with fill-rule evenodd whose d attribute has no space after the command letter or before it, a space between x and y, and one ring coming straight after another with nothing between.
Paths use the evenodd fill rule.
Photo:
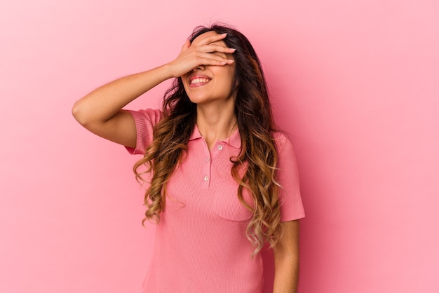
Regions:
<instances>
[{"instance_id":1,"label":"smiling woman in pink polo shirt covering her eyes","mask_svg":"<svg viewBox=\"0 0 439 293\"><path fill-rule=\"evenodd\" d=\"M171 78L161 110L122 109ZM144 292L262 292L265 243L273 292L296 292L304 210L295 156L243 34L198 27L175 60L97 88L73 114L144 155L134 170L147 186L145 220L156 223Z\"/></svg>"}]
</instances>

